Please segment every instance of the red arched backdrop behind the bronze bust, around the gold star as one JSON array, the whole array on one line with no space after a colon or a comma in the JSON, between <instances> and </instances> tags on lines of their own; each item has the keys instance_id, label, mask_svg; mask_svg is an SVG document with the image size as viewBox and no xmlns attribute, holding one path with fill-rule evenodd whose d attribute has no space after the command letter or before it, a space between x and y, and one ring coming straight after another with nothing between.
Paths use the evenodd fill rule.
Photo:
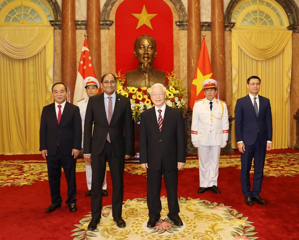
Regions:
<instances>
[{"instance_id":1,"label":"red arched backdrop behind the bronze bust, around the gold star","mask_svg":"<svg viewBox=\"0 0 299 240\"><path fill-rule=\"evenodd\" d=\"M144 5L148 14L157 14L150 19L152 29L147 25L136 29L139 20L131 13L141 13ZM154 68L173 71L173 16L170 7L163 0L125 0L115 14L116 72L121 70L124 74L137 69L138 60L133 56L134 42L143 34L152 36L157 42Z\"/></svg>"}]
</instances>

